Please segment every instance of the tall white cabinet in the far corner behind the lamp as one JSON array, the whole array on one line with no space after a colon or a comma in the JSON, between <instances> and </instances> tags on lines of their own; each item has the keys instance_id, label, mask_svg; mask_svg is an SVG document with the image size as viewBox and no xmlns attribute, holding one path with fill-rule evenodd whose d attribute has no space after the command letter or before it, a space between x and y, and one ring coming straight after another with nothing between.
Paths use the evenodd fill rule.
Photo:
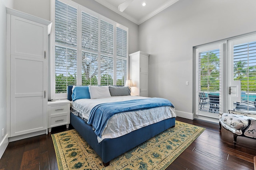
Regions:
<instances>
[{"instance_id":1,"label":"tall white cabinet in the far corner behind the lamp","mask_svg":"<svg viewBox=\"0 0 256 170\"><path fill-rule=\"evenodd\" d=\"M131 87L133 96L148 97L148 59L149 54L142 51L129 55L129 79L134 84Z\"/></svg>"}]
</instances>

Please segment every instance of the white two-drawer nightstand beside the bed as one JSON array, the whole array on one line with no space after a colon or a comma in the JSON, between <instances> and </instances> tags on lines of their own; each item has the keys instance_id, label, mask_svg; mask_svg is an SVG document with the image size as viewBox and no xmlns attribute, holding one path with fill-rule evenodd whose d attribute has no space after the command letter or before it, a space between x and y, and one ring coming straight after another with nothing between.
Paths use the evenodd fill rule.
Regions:
<instances>
[{"instance_id":1,"label":"white two-drawer nightstand beside the bed","mask_svg":"<svg viewBox=\"0 0 256 170\"><path fill-rule=\"evenodd\" d=\"M48 131L51 132L52 127L66 125L68 128L70 123L70 101L54 100L48 102Z\"/></svg>"}]
</instances>

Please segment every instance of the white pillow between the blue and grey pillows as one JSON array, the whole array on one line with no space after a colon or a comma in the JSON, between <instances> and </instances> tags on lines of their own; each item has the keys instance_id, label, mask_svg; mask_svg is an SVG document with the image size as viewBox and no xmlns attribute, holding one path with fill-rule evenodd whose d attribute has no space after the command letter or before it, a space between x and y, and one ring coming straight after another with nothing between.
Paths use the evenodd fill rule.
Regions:
<instances>
[{"instance_id":1,"label":"white pillow between the blue and grey pillows","mask_svg":"<svg viewBox=\"0 0 256 170\"><path fill-rule=\"evenodd\" d=\"M91 99L111 97L108 86L89 86Z\"/></svg>"}]
</instances>

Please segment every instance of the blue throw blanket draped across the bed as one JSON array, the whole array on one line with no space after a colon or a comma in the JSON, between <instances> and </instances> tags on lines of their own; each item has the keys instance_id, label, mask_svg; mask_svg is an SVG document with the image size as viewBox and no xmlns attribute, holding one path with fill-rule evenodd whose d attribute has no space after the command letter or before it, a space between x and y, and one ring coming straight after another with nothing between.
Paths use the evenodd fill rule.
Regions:
<instances>
[{"instance_id":1,"label":"blue throw blanket draped across the bed","mask_svg":"<svg viewBox=\"0 0 256 170\"><path fill-rule=\"evenodd\" d=\"M114 114L161 106L174 107L169 100L163 98L147 98L98 104L91 110L87 123L92 125L92 127L95 129L95 134L101 137L102 131L106 126L108 119Z\"/></svg>"}]
</instances>

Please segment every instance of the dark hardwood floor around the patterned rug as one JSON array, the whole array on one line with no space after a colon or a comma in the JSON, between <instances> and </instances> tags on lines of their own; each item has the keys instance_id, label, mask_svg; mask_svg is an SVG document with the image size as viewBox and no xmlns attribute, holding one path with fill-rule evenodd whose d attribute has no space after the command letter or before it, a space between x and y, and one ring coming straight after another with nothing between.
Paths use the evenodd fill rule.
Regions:
<instances>
[{"instance_id":1,"label":"dark hardwood floor around the patterned rug","mask_svg":"<svg viewBox=\"0 0 256 170\"><path fill-rule=\"evenodd\" d=\"M176 120L205 127L206 130L167 168L167 170L253 170L256 140L233 135L219 125L177 117ZM70 126L69 129L73 129ZM52 128L52 134L66 126ZM10 142L0 170L58 170L51 133Z\"/></svg>"}]
</instances>

